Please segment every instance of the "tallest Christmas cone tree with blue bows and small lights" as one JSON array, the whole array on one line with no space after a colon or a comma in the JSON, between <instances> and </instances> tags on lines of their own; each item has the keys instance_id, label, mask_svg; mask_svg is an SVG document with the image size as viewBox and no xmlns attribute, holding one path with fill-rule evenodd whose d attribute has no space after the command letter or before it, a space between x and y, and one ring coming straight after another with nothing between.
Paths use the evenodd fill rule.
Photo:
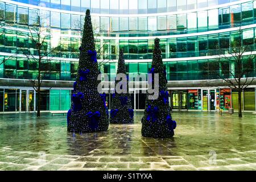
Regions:
<instances>
[{"instance_id":1,"label":"tallest Christmas cone tree with blue bows and small lights","mask_svg":"<svg viewBox=\"0 0 256 182\"><path fill-rule=\"evenodd\" d=\"M73 87L72 105L68 111L68 131L82 133L108 130L105 100L97 91L97 52L93 37L90 11L86 11L79 57L79 69Z\"/></svg>"}]
</instances>

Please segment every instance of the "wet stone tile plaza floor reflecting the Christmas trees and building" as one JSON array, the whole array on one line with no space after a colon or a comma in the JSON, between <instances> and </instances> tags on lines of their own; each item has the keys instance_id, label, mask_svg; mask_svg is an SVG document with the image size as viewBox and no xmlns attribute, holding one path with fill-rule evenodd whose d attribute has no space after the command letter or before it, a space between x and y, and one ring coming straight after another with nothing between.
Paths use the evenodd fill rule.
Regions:
<instances>
[{"instance_id":1,"label":"wet stone tile plaza floor reflecting the Christmas trees and building","mask_svg":"<svg viewBox=\"0 0 256 182\"><path fill-rule=\"evenodd\" d=\"M256 170L256 115L175 112L171 139L141 137L134 125L67 132L65 117L0 115L0 170Z\"/></svg>"}]
</instances>

